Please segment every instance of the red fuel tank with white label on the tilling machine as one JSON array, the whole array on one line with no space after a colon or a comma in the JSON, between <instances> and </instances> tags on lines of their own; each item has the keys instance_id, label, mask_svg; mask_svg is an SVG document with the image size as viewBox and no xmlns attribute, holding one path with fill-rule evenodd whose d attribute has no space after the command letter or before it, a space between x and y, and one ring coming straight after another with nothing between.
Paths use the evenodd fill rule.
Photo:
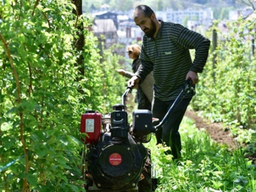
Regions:
<instances>
[{"instance_id":1,"label":"red fuel tank with white label on the tilling machine","mask_svg":"<svg viewBox=\"0 0 256 192\"><path fill-rule=\"evenodd\" d=\"M84 143L95 143L99 140L101 130L101 114L99 112L87 111L81 116L80 131L87 133Z\"/></svg>"}]
</instances>

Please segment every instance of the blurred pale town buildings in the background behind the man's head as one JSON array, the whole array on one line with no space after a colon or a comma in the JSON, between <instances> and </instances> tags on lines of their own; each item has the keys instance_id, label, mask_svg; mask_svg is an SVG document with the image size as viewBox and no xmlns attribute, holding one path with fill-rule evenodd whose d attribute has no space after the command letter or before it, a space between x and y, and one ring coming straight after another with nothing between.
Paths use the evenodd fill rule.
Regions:
<instances>
[{"instance_id":1,"label":"blurred pale town buildings in the background behind the man's head","mask_svg":"<svg viewBox=\"0 0 256 192\"><path fill-rule=\"evenodd\" d=\"M244 19L255 18L253 11L250 7L229 11L227 20L237 20L240 16ZM111 11L106 5L102 5L97 12L90 13L93 17L91 30L99 38L99 41L104 42L105 49L110 48L113 44L123 45L124 48L120 49L118 54L127 57L125 47L141 41L144 33L135 25L132 12L133 10L127 12ZM214 21L214 13L210 7L202 10L193 10L192 8L186 10L166 9L155 13L158 19L181 24L201 34L205 34ZM220 21L218 27L221 31L228 33L226 31L226 20ZM102 36L104 37L102 38Z\"/></svg>"}]
</instances>

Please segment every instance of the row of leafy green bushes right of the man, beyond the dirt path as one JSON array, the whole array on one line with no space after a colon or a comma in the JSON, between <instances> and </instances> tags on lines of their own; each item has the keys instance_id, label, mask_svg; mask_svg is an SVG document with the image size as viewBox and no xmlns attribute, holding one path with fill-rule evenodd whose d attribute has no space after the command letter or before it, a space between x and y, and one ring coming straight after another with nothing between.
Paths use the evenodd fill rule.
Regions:
<instances>
[{"instance_id":1,"label":"row of leafy green bushes right of the man, beyond the dirt path","mask_svg":"<svg viewBox=\"0 0 256 192\"><path fill-rule=\"evenodd\" d=\"M239 130L255 130L256 125L255 51L252 53L256 23L240 18L221 30L217 23L212 29L217 30L218 46L200 74L192 105L212 121L224 122L234 136L239 136Z\"/></svg>"}]
</instances>

